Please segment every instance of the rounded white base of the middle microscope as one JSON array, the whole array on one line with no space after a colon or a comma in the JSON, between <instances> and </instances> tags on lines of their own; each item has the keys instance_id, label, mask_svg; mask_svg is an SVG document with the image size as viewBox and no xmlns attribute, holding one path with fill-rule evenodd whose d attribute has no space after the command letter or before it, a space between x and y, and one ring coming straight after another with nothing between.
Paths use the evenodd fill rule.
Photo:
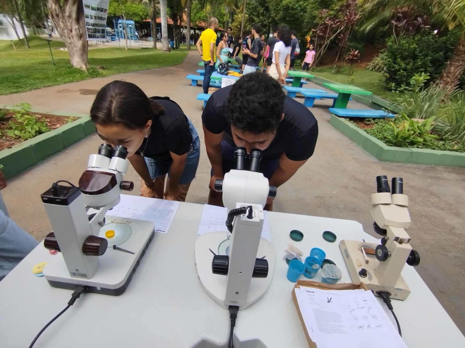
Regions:
<instances>
[{"instance_id":1,"label":"rounded white base of the middle microscope","mask_svg":"<svg viewBox=\"0 0 465 348\"><path fill-rule=\"evenodd\" d=\"M212 260L213 254L218 251L218 245L226 239L226 232L211 232L199 236L195 242L195 264L199 275L200 283L206 293L213 298L219 305L228 308L226 301L226 276L213 274ZM264 239L260 239L257 258L266 256L268 260L268 277L252 278L250 282L249 292L247 294L246 305L240 306L239 309L244 309L257 301L270 286L274 271L275 252L272 244Z\"/></svg>"}]
</instances>

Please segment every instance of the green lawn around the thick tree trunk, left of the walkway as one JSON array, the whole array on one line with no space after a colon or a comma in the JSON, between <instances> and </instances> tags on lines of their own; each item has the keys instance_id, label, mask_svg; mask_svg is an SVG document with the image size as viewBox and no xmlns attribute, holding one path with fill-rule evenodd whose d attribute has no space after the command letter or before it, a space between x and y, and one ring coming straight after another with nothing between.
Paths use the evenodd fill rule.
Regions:
<instances>
[{"instance_id":1,"label":"green lawn around the thick tree trunk, left of the walkway","mask_svg":"<svg viewBox=\"0 0 465 348\"><path fill-rule=\"evenodd\" d=\"M92 77L181 64L187 55L185 48L169 53L152 48L127 51L124 47L92 49L89 50L88 55L90 69L84 72L71 67L68 52L57 49L65 47L61 41L50 42L56 66L52 65L47 42L39 36L29 38L30 49L24 47L23 41L13 42L16 51L11 41L0 40L0 95L66 84ZM100 67L105 67L105 69L100 69Z\"/></svg>"}]
</instances>

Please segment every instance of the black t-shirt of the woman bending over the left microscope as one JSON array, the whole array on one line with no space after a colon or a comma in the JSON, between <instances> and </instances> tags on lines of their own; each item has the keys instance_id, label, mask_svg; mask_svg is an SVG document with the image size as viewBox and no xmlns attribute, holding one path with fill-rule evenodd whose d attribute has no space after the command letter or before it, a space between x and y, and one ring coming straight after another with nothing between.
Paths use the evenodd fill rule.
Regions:
<instances>
[{"instance_id":1,"label":"black t-shirt of the woman bending over the left microscope","mask_svg":"<svg viewBox=\"0 0 465 348\"><path fill-rule=\"evenodd\" d=\"M144 139L136 154L143 153L156 161L172 161L170 152L184 155L192 144L189 120L179 105L168 97L149 99L152 103L159 103L165 111L154 118L150 135Z\"/></svg>"}]
</instances>

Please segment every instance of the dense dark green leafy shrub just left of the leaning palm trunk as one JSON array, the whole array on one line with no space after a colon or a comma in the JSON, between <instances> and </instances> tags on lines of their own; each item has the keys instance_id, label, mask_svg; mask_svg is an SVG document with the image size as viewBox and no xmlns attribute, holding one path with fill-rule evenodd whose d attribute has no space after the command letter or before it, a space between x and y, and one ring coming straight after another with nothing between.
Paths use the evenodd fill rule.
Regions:
<instances>
[{"instance_id":1,"label":"dense dark green leafy shrub just left of the leaning palm trunk","mask_svg":"<svg viewBox=\"0 0 465 348\"><path fill-rule=\"evenodd\" d=\"M423 32L413 36L401 35L397 40L388 38L382 52L386 86L402 90L419 72L428 73L430 81L436 80L455 51L458 35L458 31L451 31L443 37Z\"/></svg>"}]
</instances>

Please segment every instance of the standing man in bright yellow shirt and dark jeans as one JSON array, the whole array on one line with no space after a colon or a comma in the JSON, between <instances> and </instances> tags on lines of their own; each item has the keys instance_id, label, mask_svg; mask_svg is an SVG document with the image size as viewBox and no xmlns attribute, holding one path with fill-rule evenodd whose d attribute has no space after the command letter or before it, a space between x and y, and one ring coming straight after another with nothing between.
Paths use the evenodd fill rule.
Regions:
<instances>
[{"instance_id":1,"label":"standing man in bright yellow shirt and dark jeans","mask_svg":"<svg viewBox=\"0 0 465 348\"><path fill-rule=\"evenodd\" d=\"M200 35L199 40L197 40L197 51L200 53L205 65L205 74L203 80L203 90L205 94L208 94L208 87L210 87L210 77L212 76L213 71L215 71L215 42L216 42L216 32L218 28L218 19L215 17L210 18L208 21L209 28L204 30ZM202 48L200 48L200 45Z\"/></svg>"}]
</instances>

